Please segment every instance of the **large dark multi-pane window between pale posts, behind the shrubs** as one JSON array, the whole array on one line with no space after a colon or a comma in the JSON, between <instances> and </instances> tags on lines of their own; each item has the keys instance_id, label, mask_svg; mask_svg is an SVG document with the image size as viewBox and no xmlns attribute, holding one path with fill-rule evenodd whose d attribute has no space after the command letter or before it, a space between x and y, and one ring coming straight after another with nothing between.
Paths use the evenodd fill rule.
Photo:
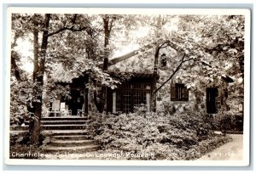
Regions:
<instances>
[{"instance_id":1,"label":"large dark multi-pane window between pale posts, behind the shrubs","mask_svg":"<svg viewBox=\"0 0 256 174\"><path fill-rule=\"evenodd\" d=\"M125 83L116 91L116 111L132 112L134 107L147 104L148 83Z\"/></svg>"}]
</instances>

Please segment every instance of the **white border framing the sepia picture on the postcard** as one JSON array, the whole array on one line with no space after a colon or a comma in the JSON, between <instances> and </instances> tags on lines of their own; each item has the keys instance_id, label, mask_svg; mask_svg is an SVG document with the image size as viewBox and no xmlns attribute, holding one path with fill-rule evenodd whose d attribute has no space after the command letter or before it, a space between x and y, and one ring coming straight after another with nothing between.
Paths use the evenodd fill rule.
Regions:
<instances>
[{"instance_id":1,"label":"white border framing the sepia picture on the postcard","mask_svg":"<svg viewBox=\"0 0 256 174\"><path fill-rule=\"evenodd\" d=\"M242 14L245 15L245 62L244 62L244 159L239 161L167 161L167 160L15 160L9 159L9 107L5 108L5 163L7 165L46 165L46 166L248 166L250 144L250 11L239 8L8 8L8 50L10 58L10 31L12 13L55 13L55 14ZM10 63L6 59L6 79L10 77ZM10 93L9 81L6 92ZM10 98L6 95L6 105Z\"/></svg>"}]
</instances>

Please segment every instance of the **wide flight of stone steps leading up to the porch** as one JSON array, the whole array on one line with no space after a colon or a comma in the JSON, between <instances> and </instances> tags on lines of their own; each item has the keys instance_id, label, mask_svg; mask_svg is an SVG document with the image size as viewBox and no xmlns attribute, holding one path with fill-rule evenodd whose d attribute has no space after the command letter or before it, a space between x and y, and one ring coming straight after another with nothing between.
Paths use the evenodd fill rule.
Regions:
<instances>
[{"instance_id":1,"label":"wide flight of stone steps leading up to the porch","mask_svg":"<svg viewBox=\"0 0 256 174\"><path fill-rule=\"evenodd\" d=\"M47 117L41 123L46 137L42 148L44 154L83 154L100 149L100 145L84 131L84 117Z\"/></svg>"}]
</instances>

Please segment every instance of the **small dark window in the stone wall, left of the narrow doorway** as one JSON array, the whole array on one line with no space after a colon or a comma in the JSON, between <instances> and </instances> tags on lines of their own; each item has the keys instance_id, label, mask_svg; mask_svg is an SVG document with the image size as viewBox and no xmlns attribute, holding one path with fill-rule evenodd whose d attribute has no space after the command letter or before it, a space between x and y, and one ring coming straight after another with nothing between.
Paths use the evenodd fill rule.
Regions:
<instances>
[{"instance_id":1,"label":"small dark window in the stone wall, left of the narrow doorway","mask_svg":"<svg viewBox=\"0 0 256 174\"><path fill-rule=\"evenodd\" d=\"M189 90L183 83L175 83L171 85L172 101L189 101Z\"/></svg>"}]
</instances>

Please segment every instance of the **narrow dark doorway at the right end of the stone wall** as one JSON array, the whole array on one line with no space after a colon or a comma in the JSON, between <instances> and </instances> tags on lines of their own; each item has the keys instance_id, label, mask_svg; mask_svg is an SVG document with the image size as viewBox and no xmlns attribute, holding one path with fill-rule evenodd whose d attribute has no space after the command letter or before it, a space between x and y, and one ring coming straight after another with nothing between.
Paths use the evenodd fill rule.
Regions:
<instances>
[{"instance_id":1,"label":"narrow dark doorway at the right end of the stone wall","mask_svg":"<svg viewBox=\"0 0 256 174\"><path fill-rule=\"evenodd\" d=\"M217 87L209 87L207 88L207 113L208 114L216 114L217 106L216 106L216 98L218 97L218 88Z\"/></svg>"}]
</instances>

